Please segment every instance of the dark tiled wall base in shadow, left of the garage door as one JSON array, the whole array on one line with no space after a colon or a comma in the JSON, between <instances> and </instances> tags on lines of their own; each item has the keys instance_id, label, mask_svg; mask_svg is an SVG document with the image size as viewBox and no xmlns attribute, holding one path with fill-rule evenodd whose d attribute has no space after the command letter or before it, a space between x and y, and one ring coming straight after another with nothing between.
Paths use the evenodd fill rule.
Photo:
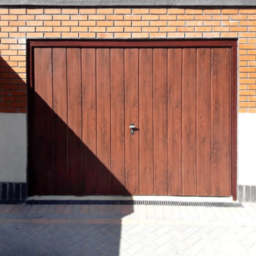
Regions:
<instances>
[{"instance_id":1,"label":"dark tiled wall base in shadow, left of the garage door","mask_svg":"<svg viewBox=\"0 0 256 256\"><path fill-rule=\"evenodd\" d=\"M23 200L27 198L27 183L0 182L0 200Z\"/></svg>"}]
</instances>

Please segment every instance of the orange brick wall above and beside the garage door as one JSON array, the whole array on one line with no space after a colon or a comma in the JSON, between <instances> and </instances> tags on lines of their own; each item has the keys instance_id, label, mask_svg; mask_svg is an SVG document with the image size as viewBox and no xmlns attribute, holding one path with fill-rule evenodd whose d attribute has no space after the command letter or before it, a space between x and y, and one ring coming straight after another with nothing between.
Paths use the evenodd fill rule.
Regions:
<instances>
[{"instance_id":1,"label":"orange brick wall above and beside the garage door","mask_svg":"<svg viewBox=\"0 0 256 256\"><path fill-rule=\"evenodd\" d=\"M256 8L0 8L0 112L27 112L26 38L238 38L239 112L256 112Z\"/></svg>"}]
</instances>

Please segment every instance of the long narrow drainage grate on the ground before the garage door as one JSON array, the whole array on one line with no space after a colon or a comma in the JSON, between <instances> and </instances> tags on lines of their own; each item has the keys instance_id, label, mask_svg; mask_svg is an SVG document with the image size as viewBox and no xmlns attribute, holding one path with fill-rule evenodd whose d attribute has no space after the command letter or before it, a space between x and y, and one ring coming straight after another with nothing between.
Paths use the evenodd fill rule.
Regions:
<instances>
[{"instance_id":1,"label":"long narrow drainage grate on the ground before the garage door","mask_svg":"<svg viewBox=\"0 0 256 256\"><path fill-rule=\"evenodd\" d=\"M147 200L1 200L0 204L111 204L111 205L163 205L163 206L206 206L206 207L243 207L232 202L176 202Z\"/></svg>"}]
</instances>

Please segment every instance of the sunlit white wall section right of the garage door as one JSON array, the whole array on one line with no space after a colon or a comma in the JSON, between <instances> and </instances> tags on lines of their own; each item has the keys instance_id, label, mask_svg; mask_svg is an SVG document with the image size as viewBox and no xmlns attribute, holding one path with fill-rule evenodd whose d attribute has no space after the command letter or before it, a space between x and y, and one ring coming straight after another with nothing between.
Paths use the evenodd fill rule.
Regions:
<instances>
[{"instance_id":1,"label":"sunlit white wall section right of the garage door","mask_svg":"<svg viewBox=\"0 0 256 256\"><path fill-rule=\"evenodd\" d=\"M238 184L256 185L256 113L238 116Z\"/></svg>"}]
</instances>

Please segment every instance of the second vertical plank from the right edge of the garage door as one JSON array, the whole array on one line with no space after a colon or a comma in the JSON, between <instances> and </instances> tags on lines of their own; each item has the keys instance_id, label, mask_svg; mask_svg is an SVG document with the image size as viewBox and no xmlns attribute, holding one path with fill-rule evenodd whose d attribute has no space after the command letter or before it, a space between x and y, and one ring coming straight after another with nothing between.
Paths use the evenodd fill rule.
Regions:
<instances>
[{"instance_id":1,"label":"second vertical plank from the right edge of the garage door","mask_svg":"<svg viewBox=\"0 0 256 256\"><path fill-rule=\"evenodd\" d=\"M211 195L211 49L197 50L197 195Z\"/></svg>"}]
</instances>

